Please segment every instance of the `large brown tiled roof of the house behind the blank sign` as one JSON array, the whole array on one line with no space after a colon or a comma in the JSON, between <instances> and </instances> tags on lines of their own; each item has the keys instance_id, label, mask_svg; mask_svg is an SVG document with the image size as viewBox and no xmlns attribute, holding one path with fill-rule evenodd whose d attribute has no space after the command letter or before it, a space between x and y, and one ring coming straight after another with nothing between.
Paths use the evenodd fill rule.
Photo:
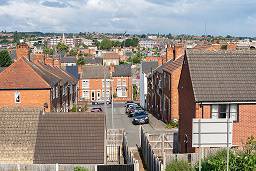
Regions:
<instances>
[{"instance_id":1,"label":"large brown tiled roof of the house behind the blank sign","mask_svg":"<svg viewBox=\"0 0 256 171\"><path fill-rule=\"evenodd\" d=\"M255 51L187 51L196 102L256 101Z\"/></svg>"}]
</instances>

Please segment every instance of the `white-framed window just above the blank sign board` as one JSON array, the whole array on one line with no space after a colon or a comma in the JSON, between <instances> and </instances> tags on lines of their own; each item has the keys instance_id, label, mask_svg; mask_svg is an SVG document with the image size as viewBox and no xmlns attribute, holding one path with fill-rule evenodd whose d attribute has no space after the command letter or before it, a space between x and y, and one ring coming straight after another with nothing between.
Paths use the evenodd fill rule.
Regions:
<instances>
[{"instance_id":1,"label":"white-framed window just above the blank sign board","mask_svg":"<svg viewBox=\"0 0 256 171\"><path fill-rule=\"evenodd\" d=\"M220 104L211 105L211 117L230 118L233 121L238 121L238 105L237 104Z\"/></svg>"}]
</instances>

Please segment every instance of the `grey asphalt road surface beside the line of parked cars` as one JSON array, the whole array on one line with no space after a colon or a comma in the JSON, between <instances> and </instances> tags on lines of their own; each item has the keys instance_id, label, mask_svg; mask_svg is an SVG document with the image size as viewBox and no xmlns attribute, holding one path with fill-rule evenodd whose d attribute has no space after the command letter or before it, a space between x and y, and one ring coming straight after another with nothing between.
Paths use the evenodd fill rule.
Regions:
<instances>
[{"instance_id":1,"label":"grey asphalt road surface beside the line of parked cars","mask_svg":"<svg viewBox=\"0 0 256 171\"><path fill-rule=\"evenodd\" d=\"M114 104L114 113L113 113L113 126L111 124L112 121L112 113L111 113L111 105L107 106L107 128L124 128L127 137L128 144L130 147L135 147L136 144L139 144L139 125L133 125L132 119L129 118L125 114L124 103L115 103ZM147 131L152 131L154 128L150 124L143 125L144 129Z\"/></svg>"}]
</instances>

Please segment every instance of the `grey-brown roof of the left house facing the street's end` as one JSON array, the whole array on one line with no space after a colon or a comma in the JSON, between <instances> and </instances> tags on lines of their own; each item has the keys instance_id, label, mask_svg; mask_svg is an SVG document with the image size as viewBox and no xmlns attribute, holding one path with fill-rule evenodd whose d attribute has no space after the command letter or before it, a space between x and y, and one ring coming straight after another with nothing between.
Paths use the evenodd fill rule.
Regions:
<instances>
[{"instance_id":1,"label":"grey-brown roof of the left house facing the street's end","mask_svg":"<svg viewBox=\"0 0 256 171\"><path fill-rule=\"evenodd\" d=\"M104 72L106 72L106 78L110 77L109 68L105 68L102 65L84 65L83 72L81 74L82 79L104 79Z\"/></svg>"}]
</instances>

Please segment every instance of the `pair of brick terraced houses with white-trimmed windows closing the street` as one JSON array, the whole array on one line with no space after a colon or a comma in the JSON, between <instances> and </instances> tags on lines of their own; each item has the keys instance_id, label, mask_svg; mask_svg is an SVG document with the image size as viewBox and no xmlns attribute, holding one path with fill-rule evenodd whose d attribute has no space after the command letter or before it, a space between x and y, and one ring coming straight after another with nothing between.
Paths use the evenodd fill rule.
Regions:
<instances>
[{"instance_id":1,"label":"pair of brick terraced houses with white-trimmed windows closing the street","mask_svg":"<svg viewBox=\"0 0 256 171\"><path fill-rule=\"evenodd\" d=\"M131 65L104 67L85 65L79 70L79 100L94 102L111 99L112 86L114 101L127 101L132 96ZM106 84L105 80L106 78ZM105 88L106 85L106 88Z\"/></svg>"}]
</instances>

